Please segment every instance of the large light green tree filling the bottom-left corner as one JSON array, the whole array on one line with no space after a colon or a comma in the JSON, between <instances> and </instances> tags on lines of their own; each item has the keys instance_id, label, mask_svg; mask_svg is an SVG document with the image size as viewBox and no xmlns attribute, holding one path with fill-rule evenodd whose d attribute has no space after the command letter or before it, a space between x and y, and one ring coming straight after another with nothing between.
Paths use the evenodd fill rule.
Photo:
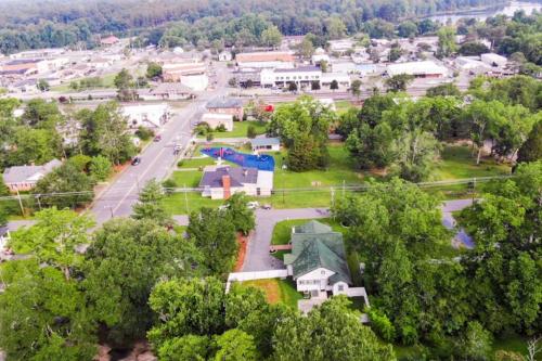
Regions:
<instances>
[{"instance_id":1,"label":"large light green tree filling the bottom-left corner","mask_svg":"<svg viewBox=\"0 0 542 361\"><path fill-rule=\"evenodd\" d=\"M0 347L13 360L90 360L94 325L75 280L30 260L2 268Z\"/></svg>"}]
</instances>

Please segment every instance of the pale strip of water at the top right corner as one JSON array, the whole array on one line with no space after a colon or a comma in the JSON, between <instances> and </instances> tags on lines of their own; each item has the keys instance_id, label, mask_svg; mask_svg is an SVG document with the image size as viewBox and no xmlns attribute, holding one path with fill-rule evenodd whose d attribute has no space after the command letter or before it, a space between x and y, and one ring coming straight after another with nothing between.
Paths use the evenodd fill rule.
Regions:
<instances>
[{"instance_id":1,"label":"pale strip of water at the top right corner","mask_svg":"<svg viewBox=\"0 0 542 361\"><path fill-rule=\"evenodd\" d=\"M438 21L442 24L447 24L451 22L455 24L462 17L475 17L478 21L485 21L488 17L504 14L506 16L512 16L517 10L522 10L527 15L530 15L534 10L541 11L542 3L540 2L525 2L525 1L512 1L505 5L495 7L491 9L483 10L472 10L460 13L450 13L446 15L435 15L429 16L428 18L433 21Z\"/></svg>"}]
</instances>

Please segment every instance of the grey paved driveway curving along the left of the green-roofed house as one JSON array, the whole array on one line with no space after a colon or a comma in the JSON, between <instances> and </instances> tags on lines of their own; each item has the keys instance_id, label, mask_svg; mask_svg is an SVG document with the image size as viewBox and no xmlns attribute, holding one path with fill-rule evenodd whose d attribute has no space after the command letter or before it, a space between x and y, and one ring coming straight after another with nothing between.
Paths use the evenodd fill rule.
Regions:
<instances>
[{"instance_id":1,"label":"grey paved driveway curving along the left of the green-roofed house","mask_svg":"<svg viewBox=\"0 0 542 361\"><path fill-rule=\"evenodd\" d=\"M325 209L257 209L256 230L248 242L243 272L279 270L284 263L269 254L273 228L278 222L289 219L311 219L330 217Z\"/></svg>"}]
</instances>

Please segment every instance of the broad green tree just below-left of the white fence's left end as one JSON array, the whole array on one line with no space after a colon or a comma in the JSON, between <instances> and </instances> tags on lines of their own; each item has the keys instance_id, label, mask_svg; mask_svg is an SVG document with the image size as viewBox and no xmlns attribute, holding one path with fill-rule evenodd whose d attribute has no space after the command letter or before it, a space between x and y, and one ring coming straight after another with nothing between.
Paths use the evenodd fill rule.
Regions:
<instances>
[{"instance_id":1,"label":"broad green tree just below-left of the white fence's left end","mask_svg":"<svg viewBox=\"0 0 542 361\"><path fill-rule=\"evenodd\" d=\"M155 349L186 335L208 336L224 328L224 288L215 278L160 281L149 299L159 315L147 333Z\"/></svg>"}]
</instances>

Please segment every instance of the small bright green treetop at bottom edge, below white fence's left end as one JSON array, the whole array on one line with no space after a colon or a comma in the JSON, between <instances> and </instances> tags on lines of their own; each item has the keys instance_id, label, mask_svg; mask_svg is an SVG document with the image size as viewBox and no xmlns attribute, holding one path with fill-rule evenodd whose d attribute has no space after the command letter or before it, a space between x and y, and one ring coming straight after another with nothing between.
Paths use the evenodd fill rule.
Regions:
<instances>
[{"instance_id":1,"label":"small bright green treetop at bottom edge, below white fence's left end","mask_svg":"<svg viewBox=\"0 0 542 361\"><path fill-rule=\"evenodd\" d=\"M218 350L215 361L259 360L254 337L241 330L230 330L216 337Z\"/></svg>"}]
</instances>

